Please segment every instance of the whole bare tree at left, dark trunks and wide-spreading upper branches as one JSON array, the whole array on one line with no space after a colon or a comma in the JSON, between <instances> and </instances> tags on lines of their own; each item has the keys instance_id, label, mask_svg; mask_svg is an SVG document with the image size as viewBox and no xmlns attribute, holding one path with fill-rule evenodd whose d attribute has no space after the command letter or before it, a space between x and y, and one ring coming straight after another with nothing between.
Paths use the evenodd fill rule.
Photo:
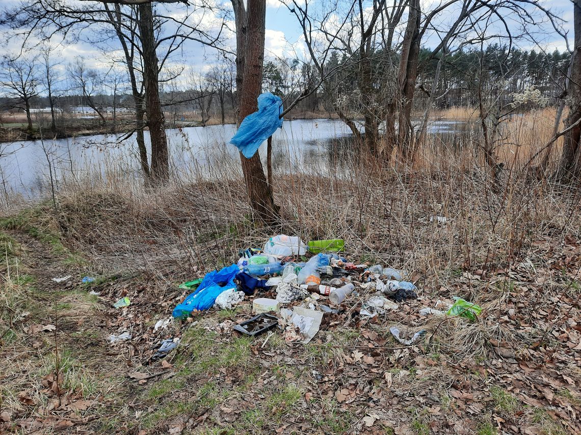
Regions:
<instances>
[{"instance_id":1,"label":"whole bare tree at left, dark trunks and wide-spreading upper branches","mask_svg":"<svg viewBox=\"0 0 581 435\"><path fill-rule=\"evenodd\" d=\"M173 3L174 8L178 10L163 10L161 7L163 3ZM203 13L207 8L205 3L199 5L193 2L183 2L185 5L179 3L182 2L85 0L71 3L66 0L25 0L0 16L0 25L20 30L17 36L24 38L24 45L27 44L30 34L50 38L59 33L78 38L78 34L73 30L82 32L87 28L96 27L100 30L103 26L107 28L113 26L117 37L124 41L121 42L121 46L127 65L132 64L134 72L141 71L144 95L136 118L138 124L141 113L145 113L147 118L146 125L149 127L152 147L152 161L148 171L154 183L163 183L169 177L167 137L159 97L160 71L171 54L179 50L184 41L192 40L216 46L222 38L221 33L225 27L223 21L210 34L202 24L206 18ZM166 29L169 31L164 31ZM135 85L139 88L137 83ZM139 155L145 172L145 168L148 168L145 146L141 146L140 143L138 130Z\"/></svg>"}]
</instances>

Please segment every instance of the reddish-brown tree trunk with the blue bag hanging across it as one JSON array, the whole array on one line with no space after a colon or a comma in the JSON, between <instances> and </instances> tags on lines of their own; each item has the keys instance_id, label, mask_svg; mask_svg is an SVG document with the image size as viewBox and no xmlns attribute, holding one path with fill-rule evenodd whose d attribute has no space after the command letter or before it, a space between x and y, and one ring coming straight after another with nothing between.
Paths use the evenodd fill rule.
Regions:
<instances>
[{"instance_id":1,"label":"reddish-brown tree trunk with the blue bag hanging across it","mask_svg":"<svg viewBox=\"0 0 581 435\"><path fill-rule=\"evenodd\" d=\"M264 35L266 21L266 0L248 0L248 35L242 35L246 39L243 53L244 74L242 77L242 89L238 89L240 119L257 110L257 98L260 95L264 62ZM238 29L238 17L236 16L236 28ZM238 33L236 34L238 38ZM238 46L238 44L236 44ZM236 61L238 64L238 60ZM236 72L238 82L238 71ZM256 219L266 223L275 223L279 219L279 206L274 204L272 190L264 175L259 153L251 158L246 158L240 153L242 172L248 189L250 206Z\"/></svg>"}]
</instances>

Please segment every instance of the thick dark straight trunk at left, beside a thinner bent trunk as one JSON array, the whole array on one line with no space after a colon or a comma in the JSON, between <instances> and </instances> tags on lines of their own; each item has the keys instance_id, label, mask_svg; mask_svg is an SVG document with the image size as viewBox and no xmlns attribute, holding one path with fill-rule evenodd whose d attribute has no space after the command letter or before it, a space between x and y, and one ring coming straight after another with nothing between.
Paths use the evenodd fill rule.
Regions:
<instances>
[{"instance_id":1,"label":"thick dark straight trunk at left, beside a thinner bent trunk","mask_svg":"<svg viewBox=\"0 0 581 435\"><path fill-rule=\"evenodd\" d=\"M138 8L139 37L144 64L145 111L151 138L151 177L156 183L163 183L169 179L170 165L162 104L159 100L159 67L155 52L153 8L151 3L143 3Z\"/></svg>"}]
</instances>

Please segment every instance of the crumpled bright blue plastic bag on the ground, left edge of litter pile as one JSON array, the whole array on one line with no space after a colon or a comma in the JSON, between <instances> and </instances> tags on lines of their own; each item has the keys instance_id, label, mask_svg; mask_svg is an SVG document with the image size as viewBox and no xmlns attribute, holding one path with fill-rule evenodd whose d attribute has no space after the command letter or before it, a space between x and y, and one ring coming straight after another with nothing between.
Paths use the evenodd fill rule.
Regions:
<instances>
[{"instance_id":1,"label":"crumpled bright blue plastic bag on the ground, left edge of litter pile","mask_svg":"<svg viewBox=\"0 0 581 435\"><path fill-rule=\"evenodd\" d=\"M220 271L207 273L195 292L188 295L184 302L178 304L172 314L175 318L188 317L193 310L207 310L214 305L221 292L236 288L234 278L240 273L236 264L224 267Z\"/></svg>"}]
</instances>

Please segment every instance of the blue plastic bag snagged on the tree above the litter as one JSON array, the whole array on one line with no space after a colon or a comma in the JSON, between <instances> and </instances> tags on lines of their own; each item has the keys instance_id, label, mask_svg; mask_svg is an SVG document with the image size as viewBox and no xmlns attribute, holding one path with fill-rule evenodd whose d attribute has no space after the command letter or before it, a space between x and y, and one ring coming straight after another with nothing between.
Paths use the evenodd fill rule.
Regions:
<instances>
[{"instance_id":1,"label":"blue plastic bag snagged on the tree above the litter","mask_svg":"<svg viewBox=\"0 0 581 435\"><path fill-rule=\"evenodd\" d=\"M258 96L258 111L242 120L230 143L242 151L244 157L252 157L260 144L272 136L277 128L281 128L281 114L281 97L270 92L261 93Z\"/></svg>"}]
</instances>

